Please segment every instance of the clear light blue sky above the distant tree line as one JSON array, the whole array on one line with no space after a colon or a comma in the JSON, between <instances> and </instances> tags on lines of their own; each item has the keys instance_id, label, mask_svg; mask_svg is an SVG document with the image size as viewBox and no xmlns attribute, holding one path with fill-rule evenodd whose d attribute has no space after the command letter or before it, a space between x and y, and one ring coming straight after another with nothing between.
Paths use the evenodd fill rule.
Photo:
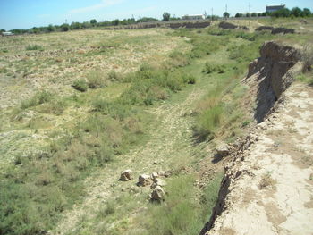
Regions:
<instances>
[{"instance_id":1,"label":"clear light blue sky above the distant tree line","mask_svg":"<svg viewBox=\"0 0 313 235\"><path fill-rule=\"evenodd\" d=\"M307 7L313 11L313 0L0 0L0 29L30 29L72 21L112 21L148 16L162 19L164 12L181 17L207 12L222 15L227 12L265 12L266 4L286 4L292 8Z\"/></svg>"}]
</instances>

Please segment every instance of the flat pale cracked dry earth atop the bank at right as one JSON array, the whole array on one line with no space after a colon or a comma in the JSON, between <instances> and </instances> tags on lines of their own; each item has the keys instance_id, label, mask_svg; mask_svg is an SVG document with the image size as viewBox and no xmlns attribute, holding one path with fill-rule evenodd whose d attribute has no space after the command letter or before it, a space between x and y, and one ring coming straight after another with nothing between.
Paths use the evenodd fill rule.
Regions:
<instances>
[{"instance_id":1,"label":"flat pale cracked dry earth atop the bank at right","mask_svg":"<svg viewBox=\"0 0 313 235\"><path fill-rule=\"evenodd\" d=\"M313 234L313 89L295 83L285 97L235 163L242 173L207 234Z\"/></svg>"}]
</instances>

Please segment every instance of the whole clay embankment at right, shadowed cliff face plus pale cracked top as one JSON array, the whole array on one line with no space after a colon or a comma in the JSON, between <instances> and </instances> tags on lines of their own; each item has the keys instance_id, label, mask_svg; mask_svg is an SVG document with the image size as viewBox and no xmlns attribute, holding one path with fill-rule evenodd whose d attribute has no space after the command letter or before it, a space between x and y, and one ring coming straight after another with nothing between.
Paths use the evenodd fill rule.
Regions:
<instances>
[{"instance_id":1,"label":"whole clay embankment at right, shadowed cliff face plus pale cracked top","mask_svg":"<svg viewBox=\"0 0 313 235\"><path fill-rule=\"evenodd\" d=\"M312 234L313 90L292 84L299 60L297 49L268 42L250 64L258 125L236 143L200 234Z\"/></svg>"}]
</instances>

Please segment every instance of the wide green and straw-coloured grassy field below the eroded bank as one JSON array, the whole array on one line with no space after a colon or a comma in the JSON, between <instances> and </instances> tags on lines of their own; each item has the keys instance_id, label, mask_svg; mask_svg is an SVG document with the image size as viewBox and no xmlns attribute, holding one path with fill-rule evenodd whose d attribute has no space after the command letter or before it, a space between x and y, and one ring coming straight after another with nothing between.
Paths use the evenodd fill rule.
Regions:
<instances>
[{"instance_id":1,"label":"wide green and straw-coloured grassy field below the eroded bank","mask_svg":"<svg viewBox=\"0 0 313 235\"><path fill-rule=\"evenodd\" d=\"M248 64L264 41L305 44L302 34L211 27L0 38L0 233L198 234L222 177L212 149L252 122L240 82ZM165 203L150 204L136 180L117 181L129 168L136 177L173 172Z\"/></svg>"}]
</instances>

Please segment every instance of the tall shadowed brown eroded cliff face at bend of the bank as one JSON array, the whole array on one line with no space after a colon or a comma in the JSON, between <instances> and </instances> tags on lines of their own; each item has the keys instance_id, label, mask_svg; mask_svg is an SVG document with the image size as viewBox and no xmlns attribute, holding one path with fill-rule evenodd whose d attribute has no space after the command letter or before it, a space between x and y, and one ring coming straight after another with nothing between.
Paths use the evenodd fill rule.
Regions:
<instances>
[{"instance_id":1,"label":"tall shadowed brown eroded cliff face at bend of the bank","mask_svg":"<svg viewBox=\"0 0 313 235\"><path fill-rule=\"evenodd\" d=\"M252 95L257 97L254 114L257 122L263 122L300 69L300 51L292 46L269 41L261 47L260 54L257 60L250 63L245 80L255 91Z\"/></svg>"}]
</instances>

